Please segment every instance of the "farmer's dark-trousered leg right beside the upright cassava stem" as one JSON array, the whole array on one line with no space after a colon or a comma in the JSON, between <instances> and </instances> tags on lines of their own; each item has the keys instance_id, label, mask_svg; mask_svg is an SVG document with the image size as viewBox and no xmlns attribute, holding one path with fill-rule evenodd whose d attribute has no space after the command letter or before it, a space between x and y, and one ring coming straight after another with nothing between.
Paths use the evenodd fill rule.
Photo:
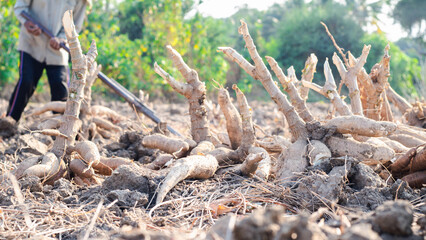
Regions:
<instances>
[{"instance_id":1,"label":"farmer's dark-trousered leg right beside the upright cassava stem","mask_svg":"<svg viewBox=\"0 0 426 240\"><path fill-rule=\"evenodd\" d=\"M68 97L68 71L67 66L46 66L47 79L50 85L52 101L66 101Z\"/></svg>"}]
</instances>

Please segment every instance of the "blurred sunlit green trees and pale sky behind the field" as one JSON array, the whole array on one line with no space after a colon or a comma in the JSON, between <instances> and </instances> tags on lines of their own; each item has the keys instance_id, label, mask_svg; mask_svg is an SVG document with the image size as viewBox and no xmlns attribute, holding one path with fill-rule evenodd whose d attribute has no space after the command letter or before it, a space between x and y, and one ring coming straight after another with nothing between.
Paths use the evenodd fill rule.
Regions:
<instances>
[{"instance_id":1,"label":"blurred sunlit green trees and pale sky behind the field","mask_svg":"<svg viewBox=\"0 0 426 240\"><path fill-rule=\"evenodd\" d=\"M0 2L0 30L8 33L0 36L2 89L18 77L19 23L14 3ZM314 53L319 60L314 81L322 84L324 61L336 51L320 24L323 21L345 52L359 56L364 44L372 45L367 72L389 43L389 82L397 92L414 99L426 95L425 9L425 0L99 0L88 10L80 39L83 47L96 40L104 73L133 92L141 89L152 98L177 98L153 70L158 62L180 77L165 51L170 44L206 81L209 93L215 92L211 81L215 79L226 87L237 84L250 93L249 98L268 100L261 84L217 52L217 47L233 47L249 59L238 34L239 20L244 19L260 55L274 57L284 70L294 66L299 78L307 57ZM38 92L43 91L43 82ZM112 96L100 82L96 84L96 91ZM309 100L326 99L312 93Z\"/></svg>"}]
</instances>

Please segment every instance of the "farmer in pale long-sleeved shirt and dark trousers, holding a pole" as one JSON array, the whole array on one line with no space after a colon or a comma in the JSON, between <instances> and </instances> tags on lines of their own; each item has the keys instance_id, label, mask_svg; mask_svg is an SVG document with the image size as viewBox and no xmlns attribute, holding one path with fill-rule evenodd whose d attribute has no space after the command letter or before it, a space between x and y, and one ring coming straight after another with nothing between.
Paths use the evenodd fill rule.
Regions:
<instances>
[{"instance_id":1,"label":"farmer in pale long-sleeved shirt and dark trousers, holding a pole","mask_svg":"<svg viewBox=\"0 0 426 240\"><path fill-rule=\"evenodd\" d=\"M73 10L77 31L81 30L85 17L85 9L91 0L18 0L14 10L21 22L19 34L19 80L9 100L7 116L16 122L21 118L37 83L46 69L52 101L65 101L68 95L67 81L68 53L60 49L60 42L65 41L62 27L62 16L66 10ZM20 14L26 11L56 37L50 38L42 34L42 30L34 23L27 21ZM1 129L0 129L1 131Z\"/></svg>"}]
</instances>

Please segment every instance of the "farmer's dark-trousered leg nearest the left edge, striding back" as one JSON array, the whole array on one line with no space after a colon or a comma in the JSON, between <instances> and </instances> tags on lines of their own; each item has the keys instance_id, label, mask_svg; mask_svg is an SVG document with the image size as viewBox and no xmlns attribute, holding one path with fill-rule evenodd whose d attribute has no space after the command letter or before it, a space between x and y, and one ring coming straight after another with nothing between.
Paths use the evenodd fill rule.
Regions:
<instances>
[{"instance_id":1,"label":"farmer's dark-trousered leg nearest the left edge, striding back","mask_svg":"<svg viewBox=\"0 0 426 240\"><path fill-rule=\"evenodd\" d=\"M19 81L9 100L7 116L19 121L43 73L43 64L31 55L20 52Z\"/></svg>"}]
</instances>

